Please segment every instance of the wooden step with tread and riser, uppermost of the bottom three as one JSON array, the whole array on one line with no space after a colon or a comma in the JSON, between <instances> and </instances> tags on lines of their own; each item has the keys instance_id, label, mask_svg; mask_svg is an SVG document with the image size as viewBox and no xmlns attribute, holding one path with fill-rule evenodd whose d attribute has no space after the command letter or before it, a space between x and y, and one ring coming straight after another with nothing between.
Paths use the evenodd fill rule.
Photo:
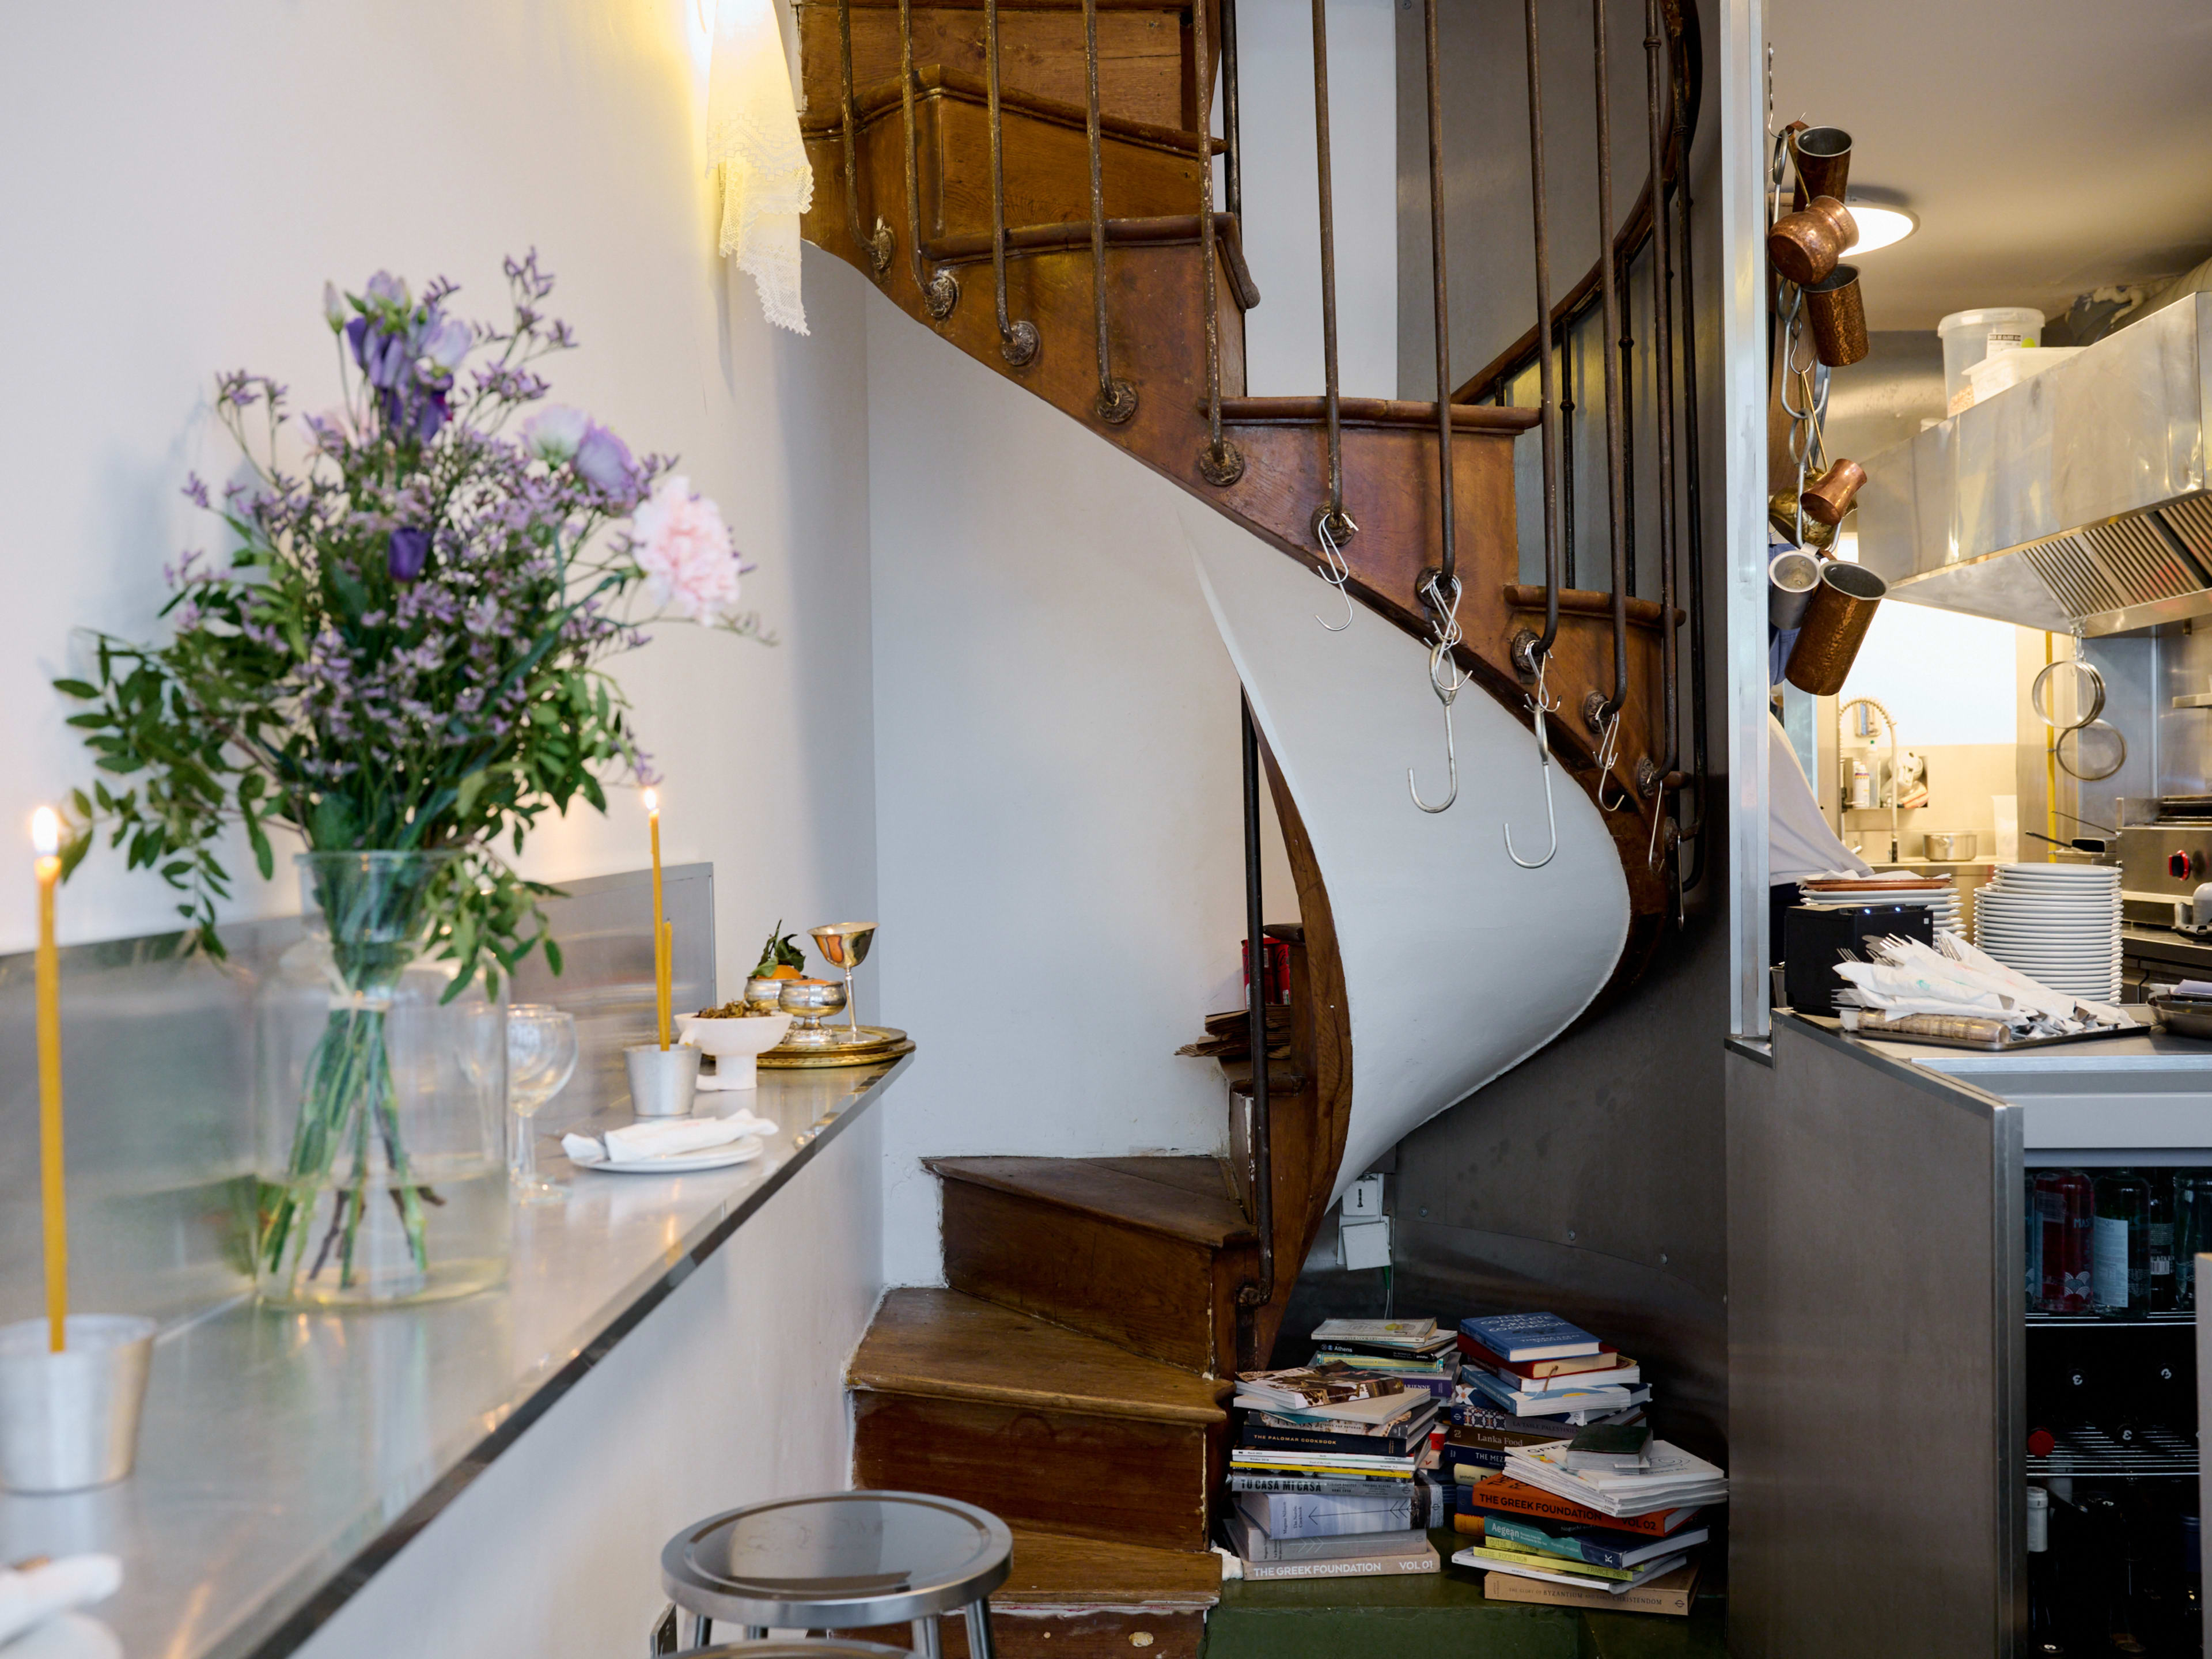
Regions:
<instances>
[{"instance_id":1,"label":"wooden step with tread and riser, uppermost of the bottom three","mask_svg":"<svg viewBox=\"0 0 2212 1659\"><path fill-rule=\"evenodd\" d=\"M1234 1369L1259 1234L1219 1159L922 1164L945 1181L945 1283L1168 1365Z\"/></svg>"}]
</instances>

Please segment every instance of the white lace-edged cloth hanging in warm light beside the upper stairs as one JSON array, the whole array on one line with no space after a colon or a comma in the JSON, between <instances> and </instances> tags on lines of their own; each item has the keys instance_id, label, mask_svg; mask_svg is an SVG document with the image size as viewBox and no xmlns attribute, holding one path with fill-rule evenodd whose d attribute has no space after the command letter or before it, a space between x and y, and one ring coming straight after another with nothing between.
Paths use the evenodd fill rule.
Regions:
<instances>
[{"instance_id":1,"label":"white lace-edged cloth hanging in warm light beside the upper stairs","mask_svg":"<svg viewBox=\"0 0 2212 1659\"><path fill-rule=\"evenodd\" d=\"M799 215L814 201L814 168L774 0L714 0L706 155L721 170L721 252L752 276L770 323L805 334Z\"/></svg>"}]
</instances>

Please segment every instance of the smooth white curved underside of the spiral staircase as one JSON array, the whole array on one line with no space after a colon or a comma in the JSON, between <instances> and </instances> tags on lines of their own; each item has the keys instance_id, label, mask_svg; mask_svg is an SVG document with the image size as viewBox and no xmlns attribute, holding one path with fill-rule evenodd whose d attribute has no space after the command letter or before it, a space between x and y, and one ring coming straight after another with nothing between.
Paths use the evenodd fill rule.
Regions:
<instances>
[{"instance_id":1,"label":"smooth white curved underside of the spiral staircase","mask_svg":"<svg viewBox=\"0 0 2212 1659\"><path fill-rule=\"evenodd\" d=\"M1409 1130L1520 1064L1608 984L1630 938L1621 854L1590 799L1553 779L1557 852L1528 728L1498 701L1453 706L1460 796L1444 794L1444 721L1427 653L1365 608L1314 622L1312 575L1192 500L1177 520L1252 714L1327 887L1354 1086L1329 1199ZM1296 1270L1292 1270L1296 1272Z\"/></svg>"}]
</instances>

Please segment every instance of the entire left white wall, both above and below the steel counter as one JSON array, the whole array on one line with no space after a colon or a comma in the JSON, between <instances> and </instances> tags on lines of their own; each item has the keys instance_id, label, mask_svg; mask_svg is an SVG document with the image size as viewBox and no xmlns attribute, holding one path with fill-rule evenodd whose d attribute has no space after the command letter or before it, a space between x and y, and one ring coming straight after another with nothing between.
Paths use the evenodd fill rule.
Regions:
<instances>
[{"instance_id":1,"label":"entire left white wall, both above and below the steel counter","mask_svg":"<svg viewBox=\"0 0 2212 1659\"><path fill-rule=\"evenodd\" d=\"M712 254L695 0L13 7L0 24L0 843L86 776L46 681L69 628L144 635L159 571L212 544L179 498L228 471L219 367L334 398L325 276L445 272L495 307L535 246L584 349L557 396L679 451L761 571L776 650L679 628L624 659L668 774L666 856L710 858L723 975L876 905L867 283L807 252L812 338L770 332ZM29 852L22 854L29 858ZM637 867L635 799L526 869ZM243 860L241 860L243 867ZM0 883L0 951L31 936ZM237 914L294 909L290 880ZM69 940L164 929L166 889L95 856ZM681 920L679 920L681 925ZM896 1095L894 1095L896 1102ZM825 1148L310 1644L319 1659L637 1652L686 1520L843 1486L843 1363L878 1290L880 1113ZM460 1568L456 1568L460 1564Z\"/></svg>"}]
</instances>

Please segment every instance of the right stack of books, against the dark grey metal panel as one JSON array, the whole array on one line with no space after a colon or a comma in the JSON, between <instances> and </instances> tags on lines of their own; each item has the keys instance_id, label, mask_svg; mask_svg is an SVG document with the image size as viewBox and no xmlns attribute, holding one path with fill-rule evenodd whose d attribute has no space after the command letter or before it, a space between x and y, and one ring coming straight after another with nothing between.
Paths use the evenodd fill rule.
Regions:
<instances>
[{"instance_id":1,"label":"right stack of books, against the dark grey metal panel","mask_svg":"<svg viewBox=\"0 0 2212 1659\"><path fill-rule=\"evenodd\" d=\"M1444 1462L1469 1544L1451 1559L1493 1601L1686 1615L1728 1475L1652 1438L1637 1363L1551 1314L1464 1321L1460 1352Z\"/></svg>"}]
</instances>

